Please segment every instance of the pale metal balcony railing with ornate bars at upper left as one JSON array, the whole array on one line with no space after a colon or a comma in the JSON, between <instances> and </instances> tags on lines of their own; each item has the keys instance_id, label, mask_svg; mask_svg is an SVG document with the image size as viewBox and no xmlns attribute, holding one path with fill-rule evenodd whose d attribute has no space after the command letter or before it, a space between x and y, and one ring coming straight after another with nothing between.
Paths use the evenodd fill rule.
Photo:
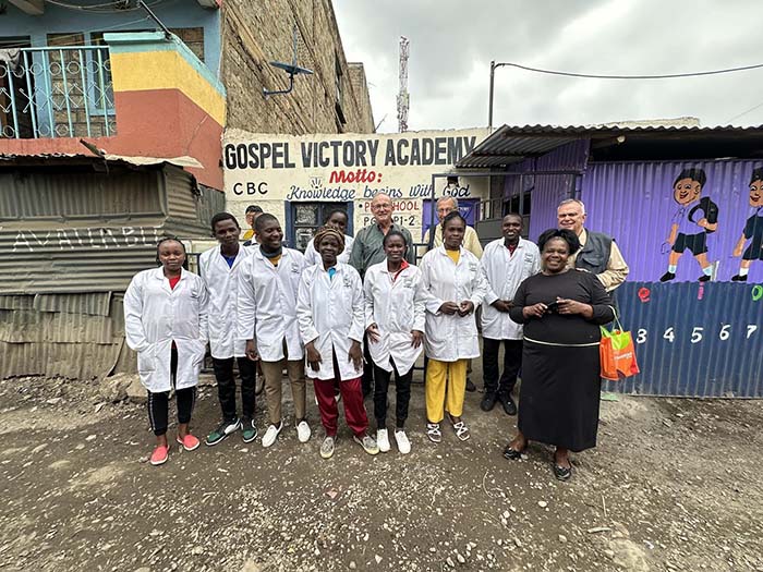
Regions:
<instances>
[{"instance_id":1,"label":"pale metal balcony railing with ornate bars at upper left","mask_svg":"<svg viewBox=\"0 0 763 572\"><path fill-rule=\"evenodd\" d=\"M116 134L109 48L25 48L0 60L0 138Z\"/></svg>"}]
</instances>

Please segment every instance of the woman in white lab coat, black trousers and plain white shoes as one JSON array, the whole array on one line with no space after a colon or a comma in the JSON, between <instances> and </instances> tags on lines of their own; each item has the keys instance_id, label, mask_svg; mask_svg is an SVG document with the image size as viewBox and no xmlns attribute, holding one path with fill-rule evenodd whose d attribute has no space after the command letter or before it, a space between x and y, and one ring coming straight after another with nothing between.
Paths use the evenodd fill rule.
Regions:
<instances>
[{"instance_id":1,"label":"woman in white lab coat, black trousers and plain white shoes","mask_svg":"<svg viewBox=\"0 0 763 572\"><path fill-rule=\"evenodd\" d=\"M405 260L405 236L390 230L383 241L387 259L365 272L365 322L368 351L374 362L374 416L379 451L389 451L387 433L387 389L395 372L395 441L405 454L411 443L405 435L408 403L411 399L413 364L423 351L425 292L421 270Z\"/></svg>"}]
</instances>

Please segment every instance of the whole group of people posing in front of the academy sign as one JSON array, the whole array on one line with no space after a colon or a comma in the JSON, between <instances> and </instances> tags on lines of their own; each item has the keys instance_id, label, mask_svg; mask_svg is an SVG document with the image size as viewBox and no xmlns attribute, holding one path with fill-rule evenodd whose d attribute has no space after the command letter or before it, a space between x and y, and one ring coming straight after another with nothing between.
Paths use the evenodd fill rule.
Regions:
<instances>
[{"instance_id":1,"label":"whole group of people posing in front of the academy sign","mask_svg":"<svg viewBox=\"0 0 763 572\"><path fill-rule=\"evenodd\" d=\"M482 308L481 407L489 411L500 402L506 413L516 414L511 393L521 370L519 433L504 455L519 458L530 441L556 446L554 473L570 477L568 451L596 441L598 325L614 319L607 291L628 273L615 242L586 231L583 204L569 199L559 206L559 228L544 232L537 245L521 238L522 217L511 214L502 220L502 238L483 252L457 200L445 197L437 204L440 222L431 247L415 266L411 234L393 222L390 197L376 195L371 209L374 222L354 240L346 234L347 214L331 211L305 254L284 246L280 222L262 209L251 218L247 212L254 231L250 246L240 243L235 218L220 212L211 219L219 246L201 255L198 275L184 268L179 240L157 245L159 267L137 273L124 297L126 340L138 355L157 438L152 464L162 464L169 455L171 389L179 447L193 450L201 443L189 423L207 342L222 413L220 425L206 437L208 446L238 430L245 442L257 437L259 372L268 417L264 447L271 447L284 427L286 373L300 442L312 436L307 377L325 431L323 458L335 451L340 401L354 440L370 454L389 451L388 390L395 375L392 438L405 454L411 450L405 433L411 380L422 353L426 436L440 442L447 415L456 438L467 440L463 403L471 360L481 355L475 313ZM364 405L371 393L375 434Z\"/></svg>"}]
</instances>

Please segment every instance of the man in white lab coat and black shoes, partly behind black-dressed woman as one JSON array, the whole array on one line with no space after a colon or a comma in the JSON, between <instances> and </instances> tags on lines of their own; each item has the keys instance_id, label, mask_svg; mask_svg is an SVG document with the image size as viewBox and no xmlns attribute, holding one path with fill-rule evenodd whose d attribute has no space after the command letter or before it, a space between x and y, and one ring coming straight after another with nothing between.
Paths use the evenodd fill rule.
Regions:
<instances>
[{"instance_id":1,"label":"man in white lab coat and black shoes, partly behind black-dressed woman","mask_svg":"<svg viewBox=\"0 0 763 572\"><path fill-rule=\"evenodd\" d=\"M519 284L541 271L541 253L522 234L522 217L506 215L501 222L502 239L491 242L480 260L480 271L487 282L482 303L482 370L485 394L480 406L491 411L500 401L507 415L517 414L511 391L522 365L522 326L509 318L509 309ZM504 373L498 368L498 349L504 343Z\"/></svg>"}]
</instances>

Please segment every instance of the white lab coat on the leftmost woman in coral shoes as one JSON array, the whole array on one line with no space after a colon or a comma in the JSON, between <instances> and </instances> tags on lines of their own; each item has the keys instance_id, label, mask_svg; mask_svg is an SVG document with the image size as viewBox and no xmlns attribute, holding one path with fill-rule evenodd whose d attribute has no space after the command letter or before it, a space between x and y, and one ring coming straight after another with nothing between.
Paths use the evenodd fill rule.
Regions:
<instances>
[{"instance_id":1,"label":"white lab coat on the leftmost woman in coral shoes","mask_svg":"<svg viewBox=\"0 0 763 572\"><path fill-rule=\"evenodd\" d=\"M207 290L202 279L182 270L174 290L161 268L135 275L124 293L124 333L137 352L137 373L153 393L169 391L172 342L178 346L174 388L198 382L206 353Z\"/></svg>"}]
</instances>

